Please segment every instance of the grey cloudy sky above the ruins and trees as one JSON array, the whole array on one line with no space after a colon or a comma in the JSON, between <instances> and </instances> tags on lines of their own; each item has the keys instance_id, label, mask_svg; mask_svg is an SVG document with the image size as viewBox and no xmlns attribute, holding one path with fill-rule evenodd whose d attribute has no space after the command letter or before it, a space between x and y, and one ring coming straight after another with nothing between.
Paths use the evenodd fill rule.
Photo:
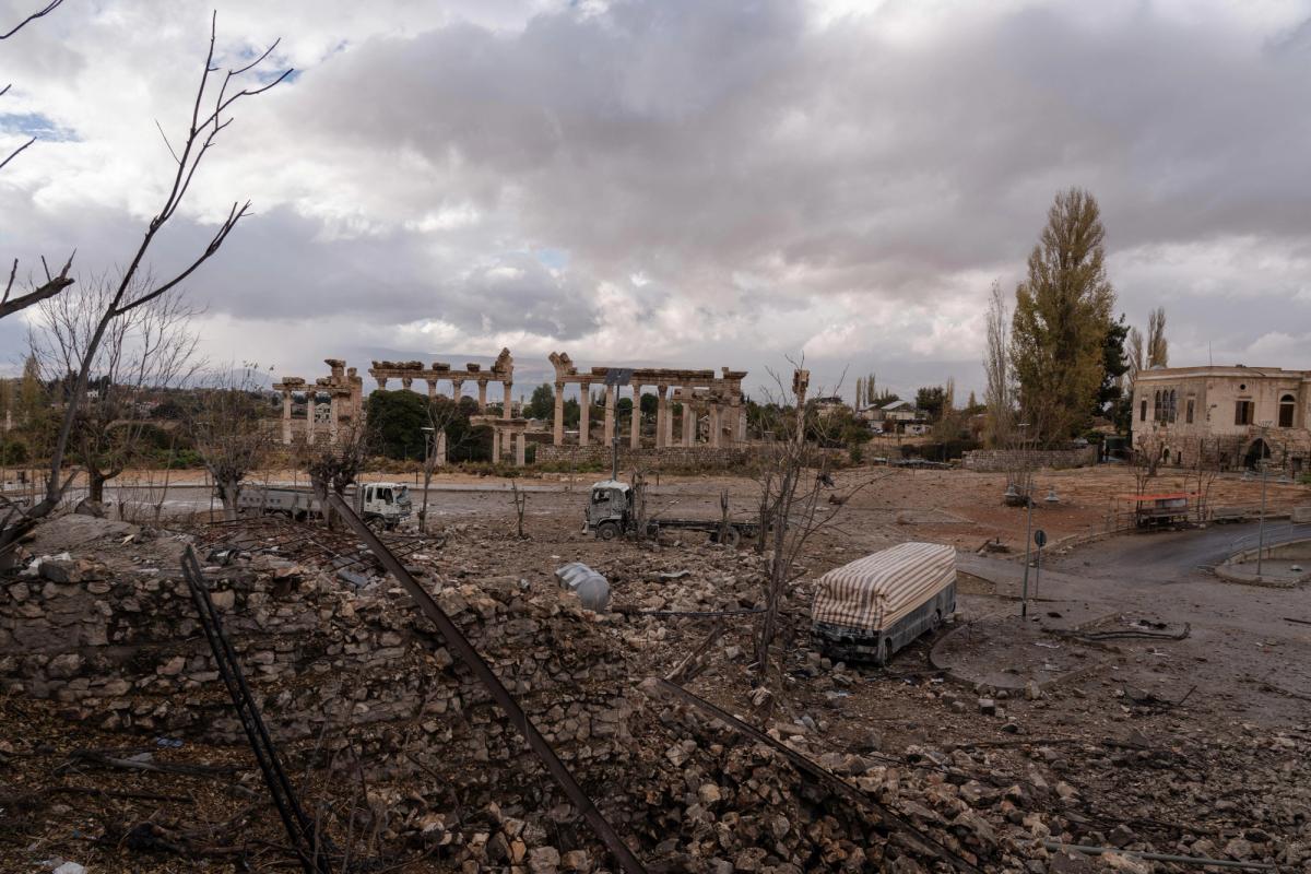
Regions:
<instances>
[{"instance_id":1,"label":"grey cloudy sky above the ruins and trees","mask_svg":"<svg viewBox=\"0 0 1311 874\"><path fill-rule=\"evenodd\" d=\"M0 30L38 0L0 0ZM983 311L1088 187L1118 309L1171 362L1311 367L1311 3L67 0L0 43L0 257L134 249L219 55L240 105L152 254L256 215L187 284L206 350L591 364L805 355L981 388ZM21 352L0 324L0 358Z\"/></svg>"}]
</instances>

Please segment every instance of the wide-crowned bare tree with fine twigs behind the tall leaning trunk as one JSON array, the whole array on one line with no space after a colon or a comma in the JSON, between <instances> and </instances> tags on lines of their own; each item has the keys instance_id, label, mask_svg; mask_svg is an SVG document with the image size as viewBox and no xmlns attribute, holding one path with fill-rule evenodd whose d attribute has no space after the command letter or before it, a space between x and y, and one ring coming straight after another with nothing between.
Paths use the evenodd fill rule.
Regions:
<instances>
[{"instance_id":1,"label":"wide-crowned bare tree with fine twigs behind the tall leaning trunk","mask_svg":"<svg viewBox=\"0 0 1311 874\"><path fill-rule=\"evenodd\" d=\"M143 283L149 279L143 276ZM84 362L96 390L72 408L69 431L77 463L87 470L88 499L105 501L105 484L136 463L148 422L144 401L152 392L185 384L195 372L197 312L180 294L148 303L110 320L92 347L101 313L117 280L84 282L76 294L42 301L29 330L31 354L46 380L59 383L66 402Z\"/></svg>"}]
</instances>

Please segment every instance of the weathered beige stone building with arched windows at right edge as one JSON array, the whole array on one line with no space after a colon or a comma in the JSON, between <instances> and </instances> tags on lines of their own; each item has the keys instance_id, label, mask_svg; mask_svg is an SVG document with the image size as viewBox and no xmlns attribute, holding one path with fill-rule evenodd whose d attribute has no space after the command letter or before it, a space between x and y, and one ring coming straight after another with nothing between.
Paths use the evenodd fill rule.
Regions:
<instances>
[{"instance_id":1,"label":"weathered beige stone building with arched windows at right edge","mask_svg":"<svg viewBox=\"0 0 1311 874\"><path fill-rule=\"evenodd\" d=\"M1311 470L1311 371L1278 367L1154 367L1133 393L1134 447L1168 464L1198 456L1223 469L1269 457L1298 474Z\"/></svg>"}]
</instances>

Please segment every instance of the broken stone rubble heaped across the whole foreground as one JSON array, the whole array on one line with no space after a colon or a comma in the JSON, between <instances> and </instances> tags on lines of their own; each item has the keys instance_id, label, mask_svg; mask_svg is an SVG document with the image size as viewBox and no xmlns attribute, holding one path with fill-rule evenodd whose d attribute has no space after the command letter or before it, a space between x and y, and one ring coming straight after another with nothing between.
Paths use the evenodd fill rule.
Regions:
<instances>
[{"instance_id":1,"label":"broken stone rubble heaped across the whole foreground","mask_svg":"<svg viewBox=\"0 0 1311 874\"><path fill-rule=\"evenodd\" d=\"M73 738L84 729L159 740L161 759L241 760L241 782L258 797L176 570L186 542L101 544L7 578L0 687L81 727ZM949 870L945 848L981 870L1040 874L1053 860L1045 841L1120 848L1129 854L1087 865L1131 871L1184 870L1134 852L1311 864L1306 734L1071 742L1028 738L1007 722L992 748L953 746L943 739L948 731L979 721L960 689L918 685L911 675L891 680L804 649L784 666L762 717L767 708L751 712L759 702L745 679L750 624L726 629L712 647L714 668L690 688L762 725L869 802L853 803L780 750L642 684L712 624L658 613L756 607L759 556L625 545L608 563L593 562L615 583L612 605L627 612L597 615L562 592L549 569L531 579L490 573L498 548L494 532L452 527L440 550L406 563L653 870L914 874ZM612 870L515 727L385 577L361 573L363 586L351 584L328 562L290 550L202 558L228 562L206 569L211 596L288 763L298 774L317 774L304 782L307 805L336 805L338 819L345 810L345 822L359 820L378 846L426 854L431 870ZM805 612L800 603L788 609ZM1049 701L1045 693L996 696L1016 710L1041 712ZM865 714L910 706L923 719L932 710L937 734L902 748L856 742L881 731L853 706L857 698ZM0 748L0 757L35 761L41 746L25 739ZM250 798L227 798L229 807L211 819L233 816ZM329 829L340 840L337 823ZM108 822L102 828L111 832Z\"/></svg>"}]
</instances>

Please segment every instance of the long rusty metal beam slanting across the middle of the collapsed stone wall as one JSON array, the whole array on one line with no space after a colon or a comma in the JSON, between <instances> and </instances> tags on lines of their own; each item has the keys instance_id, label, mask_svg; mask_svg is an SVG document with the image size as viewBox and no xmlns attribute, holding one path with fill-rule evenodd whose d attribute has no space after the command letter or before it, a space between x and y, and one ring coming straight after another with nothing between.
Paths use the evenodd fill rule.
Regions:
<instances>
[{"instance_id":1,"label":"long rusty metal beam slanting across the middle of the collapsed stone wall","mask_svg":"<svg viewBox=\"0 0 1311 874\"><path fill-rule=\"evenodd\" d=\"M464 667L467 667L473 676L482 683L496 702L501 705L501 710L505 712L514 727L523 735L528 748L532 750L539 759L541 759L541 764L547 767L547 772L557 784L560 784L565 795L568 795L569 801L572 801L574 807L578 808L582 818L587 820L591 829L597 832L597 837L599 837L600 843L606 845L606 849L614 854L619 866L628 874L646 874L646 867L641 864L637 856L628 849L628 845L624 844L619 832L615 831L615 827L610 824L610 820L607 820L597 808L597 805L591 802L591 798L587 797L583 788L578 785L577 780L574 780L573 773L570 773L565 763L560 760L556 751L551 748L547 739L541 736L540 731L538 731L538 727L532 723L532 719L528 718L528 714L524 713L523 708L519 706L519 702L515 701L513 694L510 694L510 691L505 688L503 683L501 683L501 679L492 670L492 666L489 666L482 656L479 655L479 651L473 649L473 645L469 643L467 637L464 637L459 626L451 621L451 617L437 605L433 596L429 595L427 591L418 584L418 582L416 582L410 573L405 570L405 566L401 565L396 556L387 549L387 545L379 540L378 535L364 524L363 519L355 515L355 511L351 510L349 503L341 499L341 495L329 494L328 503L332 504L332 508L337 511L347 525L350 525L351 531L354 531L355 535L364 541L364 545L367 545L370 552L378 557L378 561L383 563L383 567L385 567L387 571L396 578L396 582L405 588L406 594L414 599L414 603L418 604L418 608L423 612L423 615L427 616L434 625L437 625L437 630L442 634L442 638L455 654L455 658L464 663Z\"/></svg>"}]
</instances>

